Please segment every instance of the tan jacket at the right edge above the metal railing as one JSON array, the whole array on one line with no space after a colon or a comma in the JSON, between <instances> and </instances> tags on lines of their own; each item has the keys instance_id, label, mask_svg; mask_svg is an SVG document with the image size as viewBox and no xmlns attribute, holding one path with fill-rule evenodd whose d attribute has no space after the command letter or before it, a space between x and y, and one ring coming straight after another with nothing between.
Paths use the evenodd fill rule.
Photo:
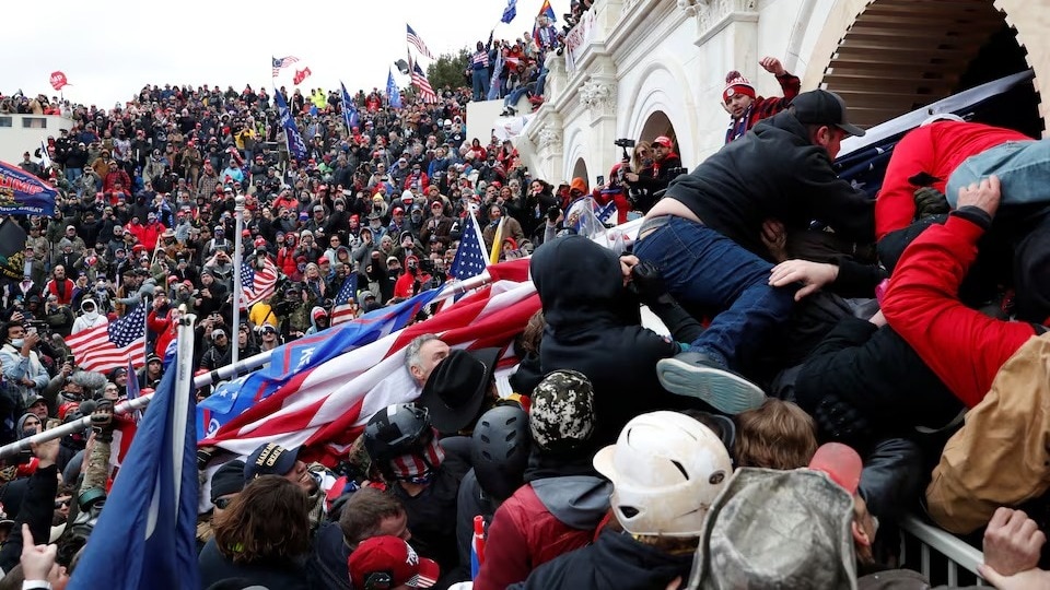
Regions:
<instances>
[{"instance_id":1,"label":"tan jacket at the right edge above the metal railing","mask_svg":"<svg viewBox=\"0 0 1050 590\"><path fill-rule=\"evenodd\" d=\"M1050 333L1034 337L1003 365L984 400L948 439L926 487L930 516L966 534L1000 506L1050 488Z\"/></svg>"}]
</instances>

